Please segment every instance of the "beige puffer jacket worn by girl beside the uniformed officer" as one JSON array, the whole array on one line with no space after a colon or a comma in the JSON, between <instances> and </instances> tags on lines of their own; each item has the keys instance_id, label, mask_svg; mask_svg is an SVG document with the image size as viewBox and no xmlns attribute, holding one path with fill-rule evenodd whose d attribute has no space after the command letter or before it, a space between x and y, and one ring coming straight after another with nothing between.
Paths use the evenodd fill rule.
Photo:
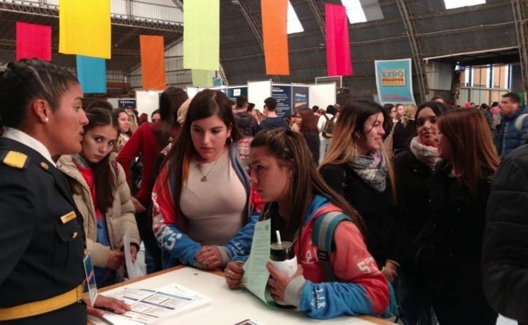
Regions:
<instances>
[{"instance_id":1,"label":"beige puffer jacket worn by girl beside the uniformed officer","mask_svg":"<svg viewBox=\"0 0 528 325\"><path fill-rule=\"evenodd\" d=\"M113 197L112 208L109 209L105 216L107 222L108 235L111 247L103 246L97 243L97 218L94 208L94 201L91 198L90 188L88 187L83 175L74 164L71 155L64 155L57 161L57 167L67 176L70 188L72 188L73 197L77 208L84 216L84 228L86 233L86 245L90 252L91 260L96 267L107 267L110 250L122 251L123 236L126 229L129 230L130 242L140 246L140 234L137 232L137 225L134 218L134 205L130 199L129 186L126 184L123 168L115 164L118 168L119 175L115 175L115 170L111 166L113 177L117 179L117 190Z\"/></svg>"}]
</instances>

